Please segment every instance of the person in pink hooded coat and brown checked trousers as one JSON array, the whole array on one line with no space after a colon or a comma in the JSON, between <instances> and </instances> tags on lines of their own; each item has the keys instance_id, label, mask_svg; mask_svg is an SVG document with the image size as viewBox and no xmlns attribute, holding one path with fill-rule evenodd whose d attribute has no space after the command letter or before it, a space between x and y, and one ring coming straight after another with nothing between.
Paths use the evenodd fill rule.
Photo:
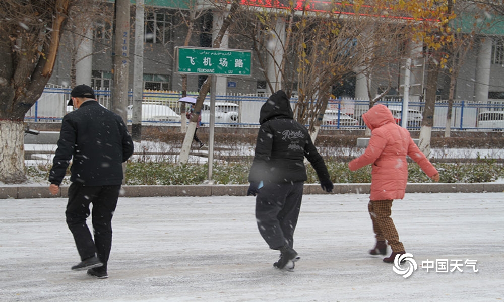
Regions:
<instances>
[{"instance_id":1,"label":"person in pink hooded coat and brown checked trousers","mask_svg":"<svg viewBox=\"0 0 504 302\"><path fill-rule=\"evenodd\" d=\"M373 223L376 244L369 251L371 255L386 255L387 244L392 248L390 257L384 262L393 263L397 255L405 254L404 246L399 241L392 214L392 201L403 199L408 181L408 162L406 156L413 159L420 168L435 182L439 173L411 139L405 128L394 122L392 112L384 105L374 105L362 115L369 129L371 138L363 155L348 164L355 171L372 164L371 196L368 205Z\"/></svg>"}]
</instances>

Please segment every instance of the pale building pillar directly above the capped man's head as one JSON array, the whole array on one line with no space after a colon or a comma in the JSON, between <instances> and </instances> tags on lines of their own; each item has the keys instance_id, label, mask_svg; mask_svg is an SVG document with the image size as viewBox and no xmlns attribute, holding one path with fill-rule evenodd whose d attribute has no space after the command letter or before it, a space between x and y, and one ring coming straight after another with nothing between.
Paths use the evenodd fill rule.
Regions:
<instances>
[{"instance_id":1,"label":"pale building pillar directly above the capped man's head","mask_svg":"<svg viewBox=\"0 0 504 302\"><path fill-rule=\"evenodd\" d=\"M91 86L91 71L93 69L93 31L88 29L82 42L77 45L77 56L75 63L76 85L86 84Z\"/></svg>"}]
</instances>

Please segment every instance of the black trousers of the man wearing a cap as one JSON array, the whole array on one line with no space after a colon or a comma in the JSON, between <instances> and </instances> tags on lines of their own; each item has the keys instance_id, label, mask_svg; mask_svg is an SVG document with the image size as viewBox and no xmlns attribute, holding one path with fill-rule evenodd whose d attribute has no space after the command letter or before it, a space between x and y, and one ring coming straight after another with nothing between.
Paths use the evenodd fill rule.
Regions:
<instances>
[{"instance_id":1,"label":"black trousers of the man wearing a cap","mask_svg":"<svg viewBox=\"0 0 504 302\"><path fill-rule=\"evenodd\" d=\"M112 216L117 206L120 185L82 186L71 184L65 215L67 225L74 236L81 260L98 256L104 268L112 247ZM94 241L86 224L89 205L92 207Z\"/></svg>"}]
</instances>

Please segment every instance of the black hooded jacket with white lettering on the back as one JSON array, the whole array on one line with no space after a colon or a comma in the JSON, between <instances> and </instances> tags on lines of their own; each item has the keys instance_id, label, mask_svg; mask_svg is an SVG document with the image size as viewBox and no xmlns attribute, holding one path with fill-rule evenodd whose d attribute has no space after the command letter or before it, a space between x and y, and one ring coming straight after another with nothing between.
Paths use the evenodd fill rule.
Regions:
<instances>
[{"instance_id":1,"label":"black hooded jacket with white lettering on the back","mask_svg":"<svg viewBox=\"0 0 504 302\"><path fill-rule=\"evenodd\" d=\"M311 163L319 180L329 180L329 173L308 130L294 120L285 92L279 90L261 107L261 127L249 182L292 183L306 181L304 157Z\"/></svg>"}]
</instances>

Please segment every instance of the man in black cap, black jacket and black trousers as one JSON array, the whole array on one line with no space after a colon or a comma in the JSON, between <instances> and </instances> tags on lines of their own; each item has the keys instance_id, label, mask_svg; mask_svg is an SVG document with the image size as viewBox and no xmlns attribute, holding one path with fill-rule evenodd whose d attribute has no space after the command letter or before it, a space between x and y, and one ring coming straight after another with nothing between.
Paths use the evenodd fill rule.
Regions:
<instances>
[{"instance_id":1,"label":"man in black cap, black jacket and black trousers","mask_svg":"<svg viewBox=\"0 0 504 302\"><path fill-rule=\"evenodd\" d=\"M108 277L111 221L123 179L122 163L133 154L133 141L122 118L102 107L91 87L76 86L71 97L68 105L78 110L63 117L49 191L59 192L73 158L65 215L81 262L72 270L87 270L88 275L102 279ZM90 203L94 241L86 224Z\"/></svg>"}]
</instances>

